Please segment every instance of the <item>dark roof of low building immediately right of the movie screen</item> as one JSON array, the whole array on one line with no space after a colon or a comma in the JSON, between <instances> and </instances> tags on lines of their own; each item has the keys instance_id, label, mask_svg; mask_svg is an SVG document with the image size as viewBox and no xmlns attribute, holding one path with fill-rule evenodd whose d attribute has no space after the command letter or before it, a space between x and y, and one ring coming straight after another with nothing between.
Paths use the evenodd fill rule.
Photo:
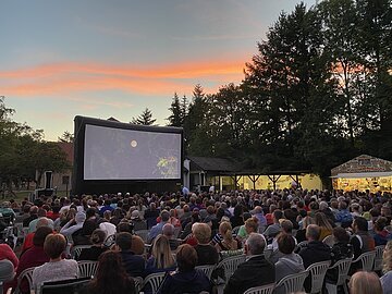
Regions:
<instances>
[{"instance_id":1,"label":"dark roof of low building immediately right of the movie screen","mask_svg":"<svg viewBox=\"0 0 392 294\"><path fill-rule=\"evenodd\" d=\"M191 170L234 172L237 170L235 162L225 158L187 157L191 160Z\"/></svg>"}]
</instances>

